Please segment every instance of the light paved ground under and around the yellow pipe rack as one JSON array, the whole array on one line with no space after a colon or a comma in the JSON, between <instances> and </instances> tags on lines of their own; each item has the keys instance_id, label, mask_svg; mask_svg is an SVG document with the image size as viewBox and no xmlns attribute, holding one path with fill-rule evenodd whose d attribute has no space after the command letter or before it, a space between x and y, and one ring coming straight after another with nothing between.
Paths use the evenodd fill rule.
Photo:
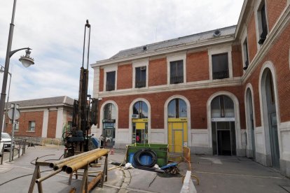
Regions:
<instances>
[{"instance_id":1,"label":"light paved ground under and around the yellow pipe rack","mask_svg":"<svg viewBox=\"0 0 290 193\"><path fill-rule=\"evenodd\" d=\"M5 163L0 166L0 192L28 192L29 185L34 172L36 157L42 161L52 162L59 159L64 150L63 147L51 148L36 146L36 148L27 149L25 155L14 162ZM160 175L152 171L139 169L123 170L121 167L110 164L111 162L123 162L125 150L115 150L113 155L109 155L108 168L115 168L108 171L108 181L104 187L95 187L91 192L180 192L182 187L182 176ZM104 159L99 159L99 163ZM90 171L100 171L102 168L90 168ZM41 176L47 176L51 172L48 167L41 167ZM82 172L80 170L80 172ZM89 177L89 181L92 177ZM43 181L43 192L69 192L72 187L79 190L82 177L71 181L68 185L69 175L60 172L57 175ZM37 185L34 186L34 192L37 191Z\"/></svg>"}]
</instances>

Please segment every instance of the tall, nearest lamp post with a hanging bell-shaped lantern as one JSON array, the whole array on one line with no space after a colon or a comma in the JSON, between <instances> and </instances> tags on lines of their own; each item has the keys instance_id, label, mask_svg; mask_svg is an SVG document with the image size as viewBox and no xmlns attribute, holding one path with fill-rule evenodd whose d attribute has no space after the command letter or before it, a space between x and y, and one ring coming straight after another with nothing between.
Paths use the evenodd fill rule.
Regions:
<instances>
[{"instance_id":1,"label":"tall, nearest lamp post with a hanging bell-shaped lantern","mask_svg":"<svg viewBox=\"0 0 290 193\"><path fill-rule=\"evenodd\" d=\"M30 57L30 50L31 50L30 48L20 48L18 50L11 51L13 29L14 29L15 8L16 8L16 0L14 0L14 3L13 3L13 11L12 11L11 24L9 28L5 67L4 67L4 76L3 76L3 82L2 82L2 91L1 91L1 99L0 99L0 127L1 127L0 133L2 132L2 126L3 126L3 115L4 115L4 106L5 106L6 87L7 87L7 78L8 78L10 58L12 57L12 55L15 54L15 52L18 52L20 50L26 50L26 55L20 57L19 61L22 62L23 66L25 67L28 67L34 64L34 59ZM0 135L0 141L1 141L1 135Z\"/></svg>"}]
</instances>

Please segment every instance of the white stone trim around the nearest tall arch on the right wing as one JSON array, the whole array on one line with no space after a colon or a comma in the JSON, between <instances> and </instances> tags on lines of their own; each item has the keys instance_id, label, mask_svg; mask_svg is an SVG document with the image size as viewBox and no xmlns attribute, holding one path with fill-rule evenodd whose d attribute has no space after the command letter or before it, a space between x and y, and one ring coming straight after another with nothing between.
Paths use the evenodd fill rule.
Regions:
<instances>
[{"instance_id":1,"label":"white stone trim around the nearest tall arch on the right wing","mask_svg":"<svg viewBox=\"0 0 290 193\"><path fill-rule=\"evenodd\" d=\"M259 92L259 100L260 100L260 112L261 112L261 125L263 127L263 136L264 136L264 144L265 144L265 155L270 155L270 138L268 138L268 134L265 132L265 128L269 128L268 126L268 120L264 120L264 112L268 112L267 110L267 101L265 101L264 97L264 90L262 90L262 87L265 88L265 69L269 69L270 73L272 74L272 80L273 80L273 87L274 87L274 94L275 94L275 107L276 107L276 115L277 115L277 126L280 124L280 108L279 108L279 97L278 97L278 89L277 89L277 76L276 76L276 70L275 66L272 64L272 62L267 61L263 64L260 75L258 78L258 92ZM282 155L282 146L281 146L281 132L279 131L278 127L278 141L279 141L279 153ZM266 143L267 142L267 143Z\"/></svg>"}]
</instances>

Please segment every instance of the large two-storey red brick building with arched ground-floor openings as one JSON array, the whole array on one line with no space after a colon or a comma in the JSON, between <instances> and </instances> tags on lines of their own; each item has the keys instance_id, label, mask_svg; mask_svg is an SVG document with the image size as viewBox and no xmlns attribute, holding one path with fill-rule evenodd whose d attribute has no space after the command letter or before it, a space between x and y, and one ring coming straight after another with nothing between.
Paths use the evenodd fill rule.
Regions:
<instances>
[{"instance_id":1,"label":"large two-storey red brick building with arched ground-floor openings","mask_svg":"<svg viewBox=\"0 0 290 193\"><path fill-rule=\"evenodd\" d=\"M95 132L116 147L253 157L290 176L289 3L246 0L236 26L92 64Z\"/></svg>"}]
</instances>

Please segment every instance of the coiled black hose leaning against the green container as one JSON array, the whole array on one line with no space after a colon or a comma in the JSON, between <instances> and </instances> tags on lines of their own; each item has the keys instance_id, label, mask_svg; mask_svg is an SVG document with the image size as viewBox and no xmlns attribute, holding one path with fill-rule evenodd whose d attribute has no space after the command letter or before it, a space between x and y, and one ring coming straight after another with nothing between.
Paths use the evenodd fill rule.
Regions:
<instances>
[{"instance_id":1,"label":"coiled black hose leaning against the green container","mask_svg":"<svg viewBox=\"0 0 290 193\"><path fill-rule=\"evenodd\" d=\"M141 157L144 155L149 155L152 158L151 163L149 164L142 164L141 163ZM154 152L151 149L141 149L138 150L137 152L135 152L134 154L134 164L136 164L136 166L144 166L144 167L153 167L157 162L157 155L156 152Z\"/></svg>"}]
</instances>

